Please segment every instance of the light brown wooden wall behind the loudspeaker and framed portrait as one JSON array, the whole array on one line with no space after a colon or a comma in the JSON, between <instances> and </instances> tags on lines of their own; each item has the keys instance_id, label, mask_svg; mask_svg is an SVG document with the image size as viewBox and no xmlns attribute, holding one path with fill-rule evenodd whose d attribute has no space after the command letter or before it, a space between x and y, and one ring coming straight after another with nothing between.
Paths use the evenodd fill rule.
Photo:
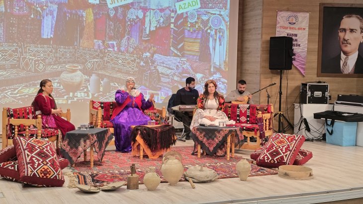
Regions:
<instances>
[{"instance_id":1,"label":"light brown wooden wall behind the loudspeaker and framed portrait","mask_svg":"<svg viewBox=\"0 0 363 204\"><path fill-rule=\"evenodd\" d=\"M338 94L363 95L362 78L317 77L319 4L362 3L362 0L240 0L237 80L245 79L248 90L254 92L276 82L268 89L270 103L278 110L279 71L269 70L270 37L275 36L276 10L310 12L306 71L303 76L294 66L283 76L281 110L293 123L293 103L299 102L301 83L325 81L329 83L334 102ZM362 46L362 45L361 45ZM287 86L287 90L286 90ZM257 99L259 97L259 99ZM266 91L254 96L255 103L267 103ZM292 108L291 108L292 107ZM276 119L275 119L276 121ZM277 123L275 123L275 129Z\"/></svg>"}]
</instances>

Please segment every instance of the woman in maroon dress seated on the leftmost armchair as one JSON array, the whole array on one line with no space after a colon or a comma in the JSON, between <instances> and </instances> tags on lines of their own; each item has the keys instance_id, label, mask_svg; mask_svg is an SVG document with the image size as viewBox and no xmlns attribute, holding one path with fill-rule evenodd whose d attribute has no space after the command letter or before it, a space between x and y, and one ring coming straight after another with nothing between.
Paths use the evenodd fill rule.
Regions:
<instances>
[{"instance_id":1,"label":"woman in maroon dress seated on the leftmost armchair","mask_svg":"<svg viewBox=\"0 0 363 204\"><path fill-rule=\"evenodd\" d=\"M58 114L62 113L62 108L57 108L57 104L52 97L53 84L49 79L40 82L40 89L34 101L35 113L42 116L42 128L60 129L62 138L67 132L75 130L75 126L69 121L63 119Z\"/></svg>"}]
</instances>

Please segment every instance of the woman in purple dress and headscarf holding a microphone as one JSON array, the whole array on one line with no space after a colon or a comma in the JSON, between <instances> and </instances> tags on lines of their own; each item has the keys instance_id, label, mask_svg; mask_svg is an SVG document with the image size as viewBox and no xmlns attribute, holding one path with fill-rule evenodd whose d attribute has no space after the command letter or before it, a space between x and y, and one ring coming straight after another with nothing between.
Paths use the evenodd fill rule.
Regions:
<instances>
[{"instance_id":1,"label":"woman in purple dress and headscarf holding a microphone","mask_svg":"<svg viewBox=\"0 0 363 204\"><path fill-rule=\"evenodd\" d=\"M116 151L131 152L131 126L147 125L150 117L144 114L144 110L153 105L154 94L145 101L144 95L135 89L135 79L126 79L126 90L117 90L115 107L111 122L114 127Z\"/></svg>"}]
</instances>

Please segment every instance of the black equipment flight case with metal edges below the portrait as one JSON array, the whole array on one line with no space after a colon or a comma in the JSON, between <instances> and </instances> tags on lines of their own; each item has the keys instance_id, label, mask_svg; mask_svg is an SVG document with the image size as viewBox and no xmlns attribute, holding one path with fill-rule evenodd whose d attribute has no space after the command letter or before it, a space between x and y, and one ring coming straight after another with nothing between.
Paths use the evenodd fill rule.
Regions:
<instances>
[{"instance_id":1,"label":"black equipment flight case with metal edges below the portrait","mask_svg":"<svg viewBox=\"0 0 363 204\"><path fill-rule=\"evenodd\" d=\"M301 83L300 103L329 104L329 84L322 82Z\"/></svg>"}]
</instances>

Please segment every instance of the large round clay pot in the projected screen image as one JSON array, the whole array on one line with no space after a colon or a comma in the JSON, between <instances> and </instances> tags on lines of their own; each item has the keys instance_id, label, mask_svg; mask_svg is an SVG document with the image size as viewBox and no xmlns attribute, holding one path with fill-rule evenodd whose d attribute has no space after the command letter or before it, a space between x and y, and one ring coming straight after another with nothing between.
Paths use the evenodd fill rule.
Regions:
<instances>
[{"instance_id":1,"label":"large round clay pot in the projected screen image","mask_svg":"<svg viewBox=\"0 0 363 204\"><path fill-rule=\"evenodd\" d=\"M85 76L80 69L78 65L66 65L66 71L61 74L61 85L68 93L76 93L83 86Z\"/></svg>"}]
</instances>

